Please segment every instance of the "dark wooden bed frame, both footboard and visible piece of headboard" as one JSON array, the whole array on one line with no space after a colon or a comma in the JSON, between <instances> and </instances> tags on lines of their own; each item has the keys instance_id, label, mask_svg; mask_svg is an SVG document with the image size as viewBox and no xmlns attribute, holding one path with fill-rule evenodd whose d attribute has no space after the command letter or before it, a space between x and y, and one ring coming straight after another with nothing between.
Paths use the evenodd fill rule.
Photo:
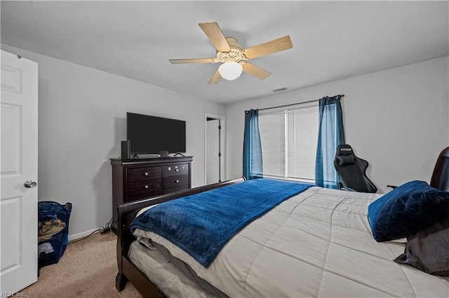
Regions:
<instances>
[{"instance_id":1,"label":"dark wooden bed frame, both footboard and visible piece of headboard","mask_svg":"<svg viewBox=\"0 0 449 298\"><path fill-rule=\"evenodd\" d=\"M141 208L159 204L163 201L170 201L172 199L185 197L190 194L206 192L225 185L241 183L244 180L244 178L237 178L234 180L225 181L223 183L215 183L195 187L189 190L182 190L180 192L173 192L171 194L163 194L159 197L133 201L126 204L118 204L117 215L119 218L119 229L117 229L117 264L119 267L119 273L116 276L117 290L123 290L126 282L130 281L143 297L166 297L166 295L164 295L163 292L161 292L161 290L159 290L157 286L152 283L152 281L149 281L142 271L140 271L132 262L130 262L130 260L128 260L129 247L135 240L135 237L130 232L130 224ZM449 190L449 147L441 151L440 155L436 159L430 185L440 188L441 190Z\"/></svg>"}]
</instances>

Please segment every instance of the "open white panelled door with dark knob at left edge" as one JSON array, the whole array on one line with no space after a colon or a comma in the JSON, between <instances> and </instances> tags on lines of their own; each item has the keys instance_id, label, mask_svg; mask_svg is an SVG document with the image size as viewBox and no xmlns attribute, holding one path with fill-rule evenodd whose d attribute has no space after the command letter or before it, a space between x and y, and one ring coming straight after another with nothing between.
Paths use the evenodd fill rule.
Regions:
<instances>
[{"instance_id":1,"label":"open white panelled door with dark knob at left edge","mask_svg":"<svg viewBox=\"0 0 449 298\"><path fill-rule=\"evenodd\" d=\"M2 296L37 280L37 76L36 62L1 51Z\"/></svg>"}]
</instances>

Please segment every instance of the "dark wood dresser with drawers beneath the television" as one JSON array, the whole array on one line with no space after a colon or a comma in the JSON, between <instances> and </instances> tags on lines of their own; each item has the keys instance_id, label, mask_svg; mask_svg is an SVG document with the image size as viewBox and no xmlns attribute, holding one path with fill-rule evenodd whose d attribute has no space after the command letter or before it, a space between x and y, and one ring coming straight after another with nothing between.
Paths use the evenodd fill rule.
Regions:
<instances>
[{"instance_id":1,"label":"dark wood dresser with drawers beneath the television","mask_svg":"<svg viewBox=\"0 0 449 298\"><path fill-rule=\"evenodd\" d=\"M111 158L112 230L115 232L117 229L117 204L190 188L192 159L192 156Z\"/></svg>"}]
</instances>

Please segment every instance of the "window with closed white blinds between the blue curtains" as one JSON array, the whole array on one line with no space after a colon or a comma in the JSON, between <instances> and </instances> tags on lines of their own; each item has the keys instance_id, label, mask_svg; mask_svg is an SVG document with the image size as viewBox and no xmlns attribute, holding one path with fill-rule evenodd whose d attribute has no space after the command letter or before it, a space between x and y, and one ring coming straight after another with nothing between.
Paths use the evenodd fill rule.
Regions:
<instances>
[{"instance_id":1,"label":"window with closed white blinds between the blue curtains","mask_svg":"<svg viewBox=\"0 0 449 298\"><path fill-rule=\"evenodd\" d=\"M315 181L319 106L260 113L264 177Z\"/></svg>"}]
</instances>

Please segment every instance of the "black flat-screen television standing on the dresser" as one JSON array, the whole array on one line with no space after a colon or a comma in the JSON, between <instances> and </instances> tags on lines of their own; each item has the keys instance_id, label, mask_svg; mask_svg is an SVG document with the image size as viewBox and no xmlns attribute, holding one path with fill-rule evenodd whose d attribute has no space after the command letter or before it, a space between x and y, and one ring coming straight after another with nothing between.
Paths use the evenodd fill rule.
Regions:
<instances>
[{"instance_id":1,"label":"black flat-screen television standing on the dresser","mask_svg":"<svg viewBox=\"0 0 449 298\"><path fill-rule=\"evenodd\" d=\"M185 121L126 113L126 139L130 141L131 154L183 153Z\"/></svg>"}]
</instances>

